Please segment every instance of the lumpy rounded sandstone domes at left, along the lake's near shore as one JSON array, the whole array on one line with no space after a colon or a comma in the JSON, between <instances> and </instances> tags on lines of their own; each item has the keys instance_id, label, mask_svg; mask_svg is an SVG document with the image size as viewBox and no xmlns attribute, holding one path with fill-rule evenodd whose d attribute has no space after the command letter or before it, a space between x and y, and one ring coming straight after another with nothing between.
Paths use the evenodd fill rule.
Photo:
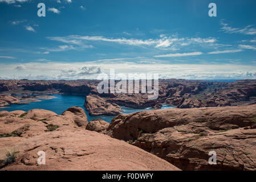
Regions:
<instances>
[{"instance_id":1,"label":"lumpy rounded sandstone domes at left, along the lake's near shore","mask_svg":"<svg viewBox=\"0 0 256 182\"><path fill-rule=\"evenodd\" d=\"M71 107L64 111L63 115L58 115L52 111L44 109L32 109L25 111L0 111L0 136L19 134L22 137L32 137L44 133L47 126L62 127L82 127L85 129L88 121L86 114L80 107ZM85 115L85 116L84 116ZM82 123L83 125L78 125Z\"/></svg>"}]
</instances>

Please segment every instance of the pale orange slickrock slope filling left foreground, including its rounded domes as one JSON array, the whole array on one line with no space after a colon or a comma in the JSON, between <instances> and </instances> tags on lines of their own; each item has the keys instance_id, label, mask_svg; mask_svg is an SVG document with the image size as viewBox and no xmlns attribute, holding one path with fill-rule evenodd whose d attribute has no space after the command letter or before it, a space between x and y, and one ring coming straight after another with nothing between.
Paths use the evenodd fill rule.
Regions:
<instances>
[{"instance_id":1,"label":"pale orange slickrock slope filling left foreground, including its rounded domes","mask_svg":"<svg viewBox=\"0 0 256 182\"><path fill-rule=\"evenodd\" d=\"M127 142L86 130L85 125L80 107L62 115L41 109L1 111L0 170L180 170ZM15 162L5 163L6 150L18 151ZM38 165L38 151L45 152L45 165Z\"/></svg>"}]
</instances>

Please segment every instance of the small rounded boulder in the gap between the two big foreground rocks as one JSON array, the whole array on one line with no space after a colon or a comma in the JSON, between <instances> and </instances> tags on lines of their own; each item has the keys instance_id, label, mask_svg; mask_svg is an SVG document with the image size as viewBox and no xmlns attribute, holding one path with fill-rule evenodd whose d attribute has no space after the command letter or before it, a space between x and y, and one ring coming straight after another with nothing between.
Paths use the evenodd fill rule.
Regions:
<instances>
[{"instance_id":1,"label":"small rounded boulder in the gap between the two big foreground rocks","mask_svg":"<svg viewBox=\"0 0 256 182\"><path fill-rule=\"evenodd\" d=\"M96 131L99 133L105 133L108 129L109 123L102 119L94 119L88 123L86 130Z\"/></svg>"}]
</instances>

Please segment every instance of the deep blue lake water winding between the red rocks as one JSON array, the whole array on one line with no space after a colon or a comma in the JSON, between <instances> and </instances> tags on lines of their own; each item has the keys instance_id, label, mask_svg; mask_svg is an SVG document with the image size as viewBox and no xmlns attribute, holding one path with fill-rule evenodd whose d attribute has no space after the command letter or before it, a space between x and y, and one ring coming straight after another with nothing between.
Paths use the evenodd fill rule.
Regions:
<instances>
[{"instance_id":1,"label":"deep blue lake water winding between the red rocks","mask_svg":"<svg viewBox=\"0 0 256 182\"><path fill-rule=\"evenodd\" d=\"M23 110L28 111L31 109L45 109L54 111L56 114L62 114L63 111L67 110L69 107L78 106L82 107L86 112L88 121L92 121L92 119L103 119L104 121L111 122L111 119L115 118L114 116L108 115L99 115L99 116L91 116L89 112L84 108L84 101L86 97L83 96L71 96L71 95L51 95L56 98L52 98L51 100L41 100L40 102L30 102L30 104L22 104L22 105L8 105L6 108L1 108L2 110L14 111L14 110ZM169 109L174 108L173 106L163 105L161 109ZM152 108L147 109L132 109L129 107L122 106L124 110L122 113L135 113L138 111L152 110Z\"/></svg>"}]
</instances>

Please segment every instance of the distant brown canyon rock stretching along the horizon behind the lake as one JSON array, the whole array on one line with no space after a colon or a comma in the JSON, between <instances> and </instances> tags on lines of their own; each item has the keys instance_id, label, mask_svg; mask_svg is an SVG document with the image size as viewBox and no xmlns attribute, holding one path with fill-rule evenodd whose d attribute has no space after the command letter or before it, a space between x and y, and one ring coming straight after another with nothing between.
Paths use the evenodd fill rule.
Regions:
<instances>
[{"instance_id":1,"label":"distant brown canyon rock stretching along the horizon behind the lake","mask_svg":"<svg viewBox=\"0 0 256 182\"><path fill-rule=\"evenodd\" d=\"M0 92L11 94L79 94L82 96L99 96L99 100L109 104L145 109L157 103L173 105L177 108L217 107L256 104L256 80L239 80L235 82L214 82L200 80L165 79L159 80L159 97L148 100L148 93L97 93L98 80L1 80ZM117 81L115 82L117 84ZM109 89L108 89L109 90ZM139 87L141 90L141 87ZM116 106L115 106L116 107ZM90 109L88 109L90 110ZM105 109L92 111L92 115L102 115ZM108 111L106 111L108 113ZM118 111L110 112L119 114Z\"/></svg>"}]
</instances>

